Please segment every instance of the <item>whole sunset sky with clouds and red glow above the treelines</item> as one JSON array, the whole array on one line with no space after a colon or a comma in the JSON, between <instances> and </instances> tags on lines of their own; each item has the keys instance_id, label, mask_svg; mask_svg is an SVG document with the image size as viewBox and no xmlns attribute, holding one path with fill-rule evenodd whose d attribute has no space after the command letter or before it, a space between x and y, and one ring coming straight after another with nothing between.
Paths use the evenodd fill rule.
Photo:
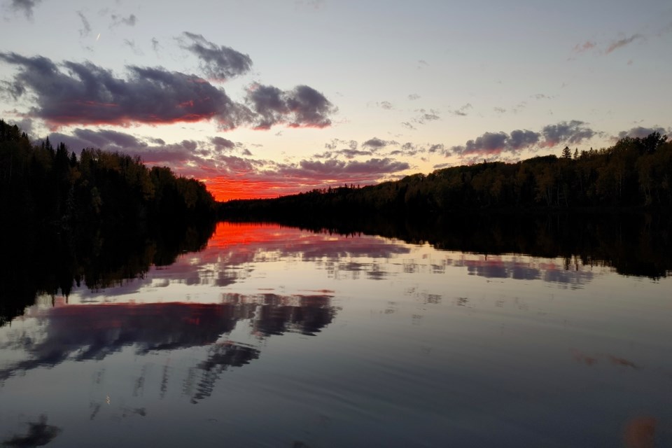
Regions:
<instances>
[{"instance_id":1,"label":"whole sunset sky with clouds and red glow above the treelines","mask_svg":"<svg viewBox=\"0 0 672 448\"><path fill-rule=\"evenodd\" d=\"M218 200L672 135L669 0L0 0L0 118Z\"/></svg>"}]
</instances>

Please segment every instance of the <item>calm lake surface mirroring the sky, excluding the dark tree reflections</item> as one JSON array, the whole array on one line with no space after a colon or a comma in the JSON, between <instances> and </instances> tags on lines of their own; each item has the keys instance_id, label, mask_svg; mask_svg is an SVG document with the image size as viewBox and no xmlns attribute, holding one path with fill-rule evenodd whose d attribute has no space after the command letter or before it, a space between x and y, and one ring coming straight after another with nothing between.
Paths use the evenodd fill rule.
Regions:
<instances>
[{"instance_id":1,"label":"calm lake surface mirroring the sky, excluding the dark tree reflections","mask_svg":"<svg viewBox=\"0 0 672 448\"><path fill-rule=\"evenodd\" d=\"M670 447L672 280L220 223L0 328L10 447Z\"/></svg>"}]
</instances>

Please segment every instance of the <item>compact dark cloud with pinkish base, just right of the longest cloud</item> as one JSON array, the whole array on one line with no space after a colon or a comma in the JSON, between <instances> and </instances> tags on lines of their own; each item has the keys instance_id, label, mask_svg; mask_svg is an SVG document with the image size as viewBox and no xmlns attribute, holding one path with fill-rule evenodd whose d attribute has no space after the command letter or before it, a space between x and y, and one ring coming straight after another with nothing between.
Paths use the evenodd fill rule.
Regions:
<instances>
[{"instance_id":1,"label":"compact dark cloud with pinkish base, just right of the longest cloud","mask_svg":"<svg viewBox=\"0 0 672 448\"><path fill-rule=\"evenodd\" d=\"M312 87L297 85L293 90L280 90L272 85L252 85L246 102L257 114L255 128L267 130L286 123L289 127L327 127L329 116L337 108Z\"/></svg>"}]
</instances>

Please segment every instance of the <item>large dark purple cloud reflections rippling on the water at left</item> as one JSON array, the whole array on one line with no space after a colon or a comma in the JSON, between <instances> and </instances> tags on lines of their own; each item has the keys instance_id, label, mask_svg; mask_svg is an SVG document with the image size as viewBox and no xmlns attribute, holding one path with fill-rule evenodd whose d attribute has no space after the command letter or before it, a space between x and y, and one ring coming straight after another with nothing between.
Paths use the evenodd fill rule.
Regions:
<instances>
[{"instance_id":1,"label":"large dark purple cloud reflections rippling on the water at left","mask_svg":"<svg viewBox=\"0 0 672 448\"><path fill-rule=\"evenodd\" d=\"M27 359L0 369L0 381L64 361L103 360L126 346L134 347L138 355L209 346L207 358L193 369L202 371L200 379L187 388L195 403L211 395L222 372L259 358L260 349L255 346L221 340L239 321L249 321L250 331L258 338L285 332L315 335L336 314L331 298L326 294L231 293L223 295L220 304L60 304L32 308L26 318L38 322L38 331L9 332L8 342L0 345L0 349L24 352ZM144 374L137 380L134 395L142 384ZM163 393L166 384L167 370L162 380ZM92 419L95 414L97 409L92 412Z\"/></svg>"}]
</instances>

